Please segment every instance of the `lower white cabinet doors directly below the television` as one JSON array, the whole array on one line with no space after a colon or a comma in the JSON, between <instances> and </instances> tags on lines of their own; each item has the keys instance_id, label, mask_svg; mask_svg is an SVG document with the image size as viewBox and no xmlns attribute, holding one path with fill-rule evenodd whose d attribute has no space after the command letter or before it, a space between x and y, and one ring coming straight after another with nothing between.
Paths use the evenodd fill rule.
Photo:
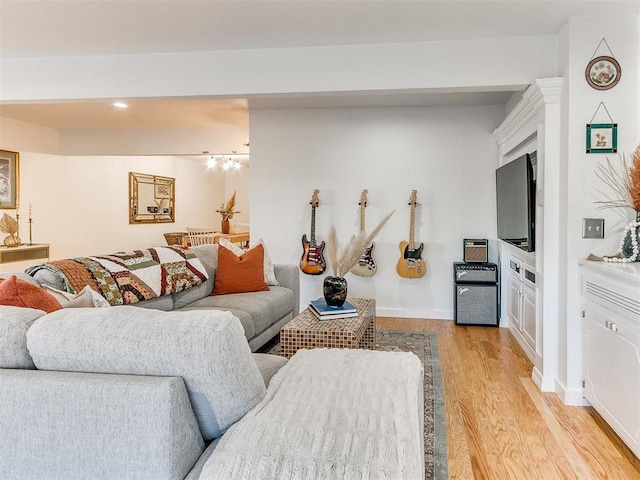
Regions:
<instances>
[{"instance_id":1,"label":"lower white cabinet doors directly below the television","mask_svg":"<svg viewBox=\"0 0 640 480\"><path fill-rule=\"evenodd\" d=\"M536 325L536 269L520 258L508 257L507 314L509 328L535 363L537 345Z\"/></svg>"}]
</instances>

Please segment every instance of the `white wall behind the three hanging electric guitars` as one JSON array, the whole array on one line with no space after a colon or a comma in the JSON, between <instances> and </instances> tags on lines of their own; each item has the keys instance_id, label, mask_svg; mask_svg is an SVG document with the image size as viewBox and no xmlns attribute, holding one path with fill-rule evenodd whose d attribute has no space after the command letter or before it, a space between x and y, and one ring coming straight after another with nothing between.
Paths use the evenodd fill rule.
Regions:
<instances>
[{"instance_id":1,"label":"white wall behind the three hanging electric guitars","mask_svg":"<svg viewBox=\"0 0 640 480\"><path fill-rule=\"evenodd\" d=\"M374 277L347 275L349 294L375 297L383 316L453 318L453 262L463 238L495 238L491 132L504 106L251 112L251 231L276 263L297 264L309 236L309 201L320 190L316 236L331 224L342 243L358 231L367 188L367 227L394 216L376 240ZM416 241L427 274L398 276L398 244L408 240L412 189L418 190ZM495 242L495 241L494 241ZM495 258L494 258L495 259ZM322 294L322 278L301 274L301 304Z\"/></svg>"}]
</instances>

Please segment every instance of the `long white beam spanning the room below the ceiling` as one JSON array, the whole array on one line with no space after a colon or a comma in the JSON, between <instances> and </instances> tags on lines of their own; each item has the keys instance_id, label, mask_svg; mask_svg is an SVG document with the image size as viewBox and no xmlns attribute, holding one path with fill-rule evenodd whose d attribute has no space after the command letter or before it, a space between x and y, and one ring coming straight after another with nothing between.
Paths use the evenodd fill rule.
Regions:
<instances>
[{"instance_id":1,"label":"long white beam spanning the room below the ceiling","mask_svg":"<svg viewBox=\"0 0 640 480\"><path fill-rule=\"evenodd\" d=\"M510 89L528 85L534 78L555 76L556 65L550 61L555 49L556 37L548 35L386 45L2 59L0 100Z\"/></svg>"}]
</instances>

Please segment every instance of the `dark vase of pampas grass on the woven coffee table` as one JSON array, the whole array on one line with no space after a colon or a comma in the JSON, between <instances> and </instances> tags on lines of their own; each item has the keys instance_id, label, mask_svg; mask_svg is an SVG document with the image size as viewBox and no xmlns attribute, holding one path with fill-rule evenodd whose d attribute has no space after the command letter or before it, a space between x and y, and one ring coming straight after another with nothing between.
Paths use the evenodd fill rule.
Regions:
<instances>
[{"instance_id":1,"label":"dark vase of pampas grass on the woven coffee table","mask_svg":"<svg viewBox=\"0 0 640 480\"><path fill-rule=\"evenodd\" d=\"M365 250L376 238L382 227L391 218L393 212L386 215L369 235L360 231L352 235L346 247L340 248L336 227L331 225L328 237L329 265L332 276L325 277L323 283L324 299L328 305L340 306L347 298L347 280L344 276L358 263Z\"/></svg>"}]
</instances>

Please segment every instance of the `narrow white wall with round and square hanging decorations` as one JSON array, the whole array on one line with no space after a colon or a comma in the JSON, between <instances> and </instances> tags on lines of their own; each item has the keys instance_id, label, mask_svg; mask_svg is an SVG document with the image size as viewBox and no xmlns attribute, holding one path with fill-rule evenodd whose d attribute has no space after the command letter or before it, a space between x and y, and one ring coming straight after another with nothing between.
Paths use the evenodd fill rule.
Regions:
<instances>
[{"instance_id":1,"label":"narrow white wall with round and square hanging decorations","mask_svg":"<svg viewBox=\"0 0 640 480\"><path fill-rule=\"evenodd\" d=\"M585 81L585 67L594 50L605 37L615 58L622 67L618 85L599 91ZM618 123L618 151L629 158L640 141L637 117L638 102L638 17L614 16L603 18L574 18L561 32L564 52L560 58L561 73L565 77L564 115L566 118L566 322L560 325L559 374L564 400L578 403L582 396L582 332L580 273L577 261L589 253L613 254L618 248L622 229L633 218L631 210L599 210L596 200L602 199L598 191L608 187L596 175L598 165L609 158L618 162L616 154L585 153L585 126L590 123L600 102L604 102L613 121ZM608 54L599 50L599 54ZM564 62L563 62L564 61ZM602 109L601 109L602 111ZM606 116L605 116L606 118ZM599 113L597 120L601 120ZM604 218L605 239L582 238L583 218ZM562 319L564 320L564 319ZM561 395L563 396L563 395Z\"/></svg>"}]
</instances>

